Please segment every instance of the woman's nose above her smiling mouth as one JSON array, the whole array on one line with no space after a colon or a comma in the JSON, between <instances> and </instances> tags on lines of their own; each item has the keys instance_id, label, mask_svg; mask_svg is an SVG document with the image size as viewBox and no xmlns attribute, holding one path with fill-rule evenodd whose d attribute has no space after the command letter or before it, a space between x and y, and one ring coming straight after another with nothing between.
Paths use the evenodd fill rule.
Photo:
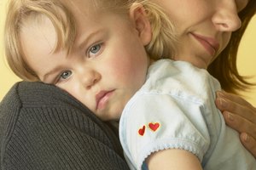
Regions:
<instances>
[{"instance_id":1,"label":"woman's nose above her smiling mouth","mask_svg":"<svg viewBox=\"0 0 256 170\"><path fill-rule=\"evenodd\" d=\"M236 3L224 0L218 3L212 22L218 31L236 31L241 27L241 20L237 14Z\"/></svg>"}]
</instances>

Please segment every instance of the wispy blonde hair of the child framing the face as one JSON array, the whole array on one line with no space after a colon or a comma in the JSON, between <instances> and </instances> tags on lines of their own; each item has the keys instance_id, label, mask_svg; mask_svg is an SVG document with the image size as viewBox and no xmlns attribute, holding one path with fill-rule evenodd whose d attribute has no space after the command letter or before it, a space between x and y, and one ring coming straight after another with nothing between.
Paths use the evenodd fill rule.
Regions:
<instances>
[{"instance_id":1,"label":"wispy blonde hair of the child framing the face","mask_svg":"<svg viewBox=\"0 0 256 170\"><path fill-rule=\"evenodd\" d=\"M5 54L10 68L26 81L39 81L37 74L26 64L20 44L20 31L29 20L40 20L46 16L55 26L57 35L55 49L73 48L76 37L76 23L73 14L63 0L10 0L5 22ZM152 26L152 41L146 50L152 59L172 58L174 31L164 11L148 0L88 0L93 7L110 12L129 14L131 6L143 5ZM72 2L71 2L72 3ZM137 5L134 5L137 4Z\"/></svg>"}]
</instances>

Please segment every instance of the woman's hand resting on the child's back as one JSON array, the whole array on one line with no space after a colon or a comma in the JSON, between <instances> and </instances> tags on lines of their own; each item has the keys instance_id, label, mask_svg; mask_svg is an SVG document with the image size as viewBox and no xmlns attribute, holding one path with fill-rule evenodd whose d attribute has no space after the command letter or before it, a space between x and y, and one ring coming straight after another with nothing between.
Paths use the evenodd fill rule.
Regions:
<instances>
[{"instance_id":1,"label":"woman's hand resting on the child's back","mask_svg":"<svg viewBox=\"0 0 256 170\"><path fill-rule=\"evenodd\" d=\"M241 143L256 158L256 108L240 96L224 91L217 92L215 103L226 124L240 133Z\"/></svg>"}]
</instances>

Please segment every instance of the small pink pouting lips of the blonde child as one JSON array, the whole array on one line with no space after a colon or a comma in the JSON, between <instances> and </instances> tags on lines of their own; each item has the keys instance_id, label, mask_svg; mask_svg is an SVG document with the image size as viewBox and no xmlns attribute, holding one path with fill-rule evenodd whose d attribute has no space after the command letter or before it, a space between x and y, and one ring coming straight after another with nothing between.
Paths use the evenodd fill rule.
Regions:
<instances>
[{"instance_id":1,"label":"small pink pouting lips of the blonde child","mask_svg":"<svg viewBox=\"0 0 256 170\"><path fill-rule=\"evenodd\" d=\"M112 94L113 90L101 91L96 94L96 110L102 110L108 103L108 99Z\"/></svg>"}]
</instances>

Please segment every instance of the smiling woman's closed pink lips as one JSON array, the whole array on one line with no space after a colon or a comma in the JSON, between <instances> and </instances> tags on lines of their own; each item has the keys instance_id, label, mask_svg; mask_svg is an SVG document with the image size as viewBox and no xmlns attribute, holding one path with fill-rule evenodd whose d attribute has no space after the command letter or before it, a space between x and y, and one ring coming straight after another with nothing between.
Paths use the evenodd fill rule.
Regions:
<instances>
[{"instance_id":1,"label":"smiling woman's closed pink lips","mask_svg":"<svg viewBox=\"0 0 256 170\"><path fill-rule=\"evenodd\" d=\"M212 56L218 52L219 43L212 37L204 37L195 33L191 33L195 39L201 43L201 45L207 50Z\"/></svg>"}]
</instances>

